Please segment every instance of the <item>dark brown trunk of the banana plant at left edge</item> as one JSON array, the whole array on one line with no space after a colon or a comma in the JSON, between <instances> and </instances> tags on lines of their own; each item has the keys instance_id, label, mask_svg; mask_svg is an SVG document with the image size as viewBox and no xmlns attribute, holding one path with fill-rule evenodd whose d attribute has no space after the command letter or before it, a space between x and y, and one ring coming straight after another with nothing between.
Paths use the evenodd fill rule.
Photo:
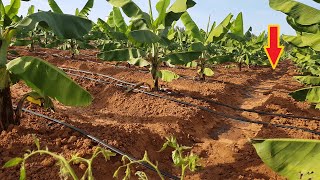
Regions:
<instances>
[{"instance_id":1,"label":"dark brown trunk of the banana plant at left edge","mask_svg":"<svg viewBox=\"0 0 320 180\"><path fill-rule=\"evenodd\" d=\"M10 124L18 124L14 119L9 73L6 67L0 68L0 131L7 130Z\"/></svg>"}]
</instances>

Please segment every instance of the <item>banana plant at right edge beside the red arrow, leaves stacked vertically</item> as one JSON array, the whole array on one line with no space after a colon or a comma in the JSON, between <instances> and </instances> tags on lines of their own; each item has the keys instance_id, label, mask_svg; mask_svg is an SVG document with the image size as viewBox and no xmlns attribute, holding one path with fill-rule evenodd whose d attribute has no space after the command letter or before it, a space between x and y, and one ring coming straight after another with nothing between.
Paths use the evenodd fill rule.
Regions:
<instances>
[{"instance_id":1,"label":"banana plant at right edge beside the red arrow, leaves stacked vertically","mask_svg":"<svg viewBox=\"0 0 320 180\"><path fill-rule=\"evenodd\" d=\"M285 13L288 24L297 32L296 36L284 35L283 39L299 48L292 57L304 67L304 72L295 78L307 87L290 95L320 108L320 57L317 55L320 51L320 10L293 0L270 0L269 4L274 10Z\"/></svg>"}]
</instances>

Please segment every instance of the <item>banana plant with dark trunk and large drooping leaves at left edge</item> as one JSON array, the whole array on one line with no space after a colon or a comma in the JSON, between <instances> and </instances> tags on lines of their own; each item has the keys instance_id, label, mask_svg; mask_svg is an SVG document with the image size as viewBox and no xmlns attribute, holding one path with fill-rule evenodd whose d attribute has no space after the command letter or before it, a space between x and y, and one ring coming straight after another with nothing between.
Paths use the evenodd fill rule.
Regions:
<instances>
[{"instance_id":1,"label":"banana plant with dark trunk and large drooping leaves at left edge","mask_svg":"<svg viewBox=\"0 0 320 180\"><path fill-rule=\"evenodd\" d=\"M14 118L10 86L19 80L25 82L42 97L51 97L68 106L87 106L91 95L63 71L36 57L24 56L8 62L8 48L19 29L32 31L36 25L49 27L60 38L81 39L92 22L81 17L38 12L20 20L17 14L21 0L11 0L4 6L0 1L0 130L9 124L18 124Z\"/></svg>"}]
</instances>

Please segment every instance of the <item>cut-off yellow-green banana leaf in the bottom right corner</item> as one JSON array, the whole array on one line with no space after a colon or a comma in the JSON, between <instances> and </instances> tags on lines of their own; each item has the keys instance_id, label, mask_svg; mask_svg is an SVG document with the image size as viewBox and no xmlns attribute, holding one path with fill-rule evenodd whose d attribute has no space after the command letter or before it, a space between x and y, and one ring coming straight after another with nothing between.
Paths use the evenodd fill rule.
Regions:
<instances>
[{"instance_id":1,"label":"cut-off yellow-green banana leaf in the bottom right corner","mask_svg":"<svg viewBox=\"0 0 320 180\"><path fill-rule=\"evenodd\" d=\"M288 179L319 179L320 141L299 139L253 139L262 161Z\"/></svg>"}]
</instances>

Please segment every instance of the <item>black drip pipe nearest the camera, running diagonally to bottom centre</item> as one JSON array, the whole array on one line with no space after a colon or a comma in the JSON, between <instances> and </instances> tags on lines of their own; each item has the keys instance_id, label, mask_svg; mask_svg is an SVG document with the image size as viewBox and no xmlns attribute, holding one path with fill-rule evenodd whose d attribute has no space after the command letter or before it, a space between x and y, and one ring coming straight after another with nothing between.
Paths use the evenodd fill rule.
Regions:
<instances>
[{"instance_id":1,"label":"black drip pipe nearest the camera, running diagonally to bottom centre","mask_svg":"<svg viewBox=\"0 0 320 180\"><path fill-rule=\"evenodd\" d=\"M99 139L99 138L97 138L97 137L95 137L95 136L90 135L89 133L87 133L86 131L84 131L84 130L82 130L82 129L79 129L79 128L75 127L75 126L72 126L71 124L68 124L68 123L59 121L59 120L57 120L57 119L51 118L51 117L49 117L49 116L46 116L46 115L43 115L43 114L40 114L40 113L31 111L31 110L28 110L28 109L25 109L25 108L22 108L22 111L24 111L24 112L26 112L26 113L29 113L29 114L32 114L32 115L35 115L35 116L38 116L38 117L42 117L42 118L47 119L47 120L49 120L49 121L51 121L51 122L54 122L54 123L56 123L56 124L61 124L61 125L65 126L65 127L68 127L68 128L70 128L70 129L72 129L72 130L74 130L74 131L76 131L76 132L79 132L79 133L82 134L83 136L91 139L92 141L98 143L99 145L103 146L103 147L106 148L106 149L110 149L111 151L113 151L113 152L115 152L115 153L117 153L117 154L119 154L119 155L121 155L121 156L127 156L127 157L128 157L130 160L132 160L132 161L138 161L137 158L132 157L131 155L128 155L128 154L126 154L125 152L123 152L123 151L121 151L121 150L119 150L119 149L117 149L117 148L115 148L115 147L113 147L113 146L108 145L108 144L105 143L103 140L101 140L101 139ZM142 166L144 166L144 167L147 168L147 169L150 169L150 170L152 170L152 171L154 171L154 172L157 172L157 171L156 171L150 164L148 164L148 163L139 163L139 164L141 164ZM167 178L170 178L170 179L174 179L174 180L179 180L179 179L180 179L179 177L174 176L174 175L172 175L172 174L170 174L170 173L168 173L168 172L165 172L165 171L160 171L160 173L161 173L163 176L165 176L165 177L167 177Z\"/></svg>"}]
</instances>

